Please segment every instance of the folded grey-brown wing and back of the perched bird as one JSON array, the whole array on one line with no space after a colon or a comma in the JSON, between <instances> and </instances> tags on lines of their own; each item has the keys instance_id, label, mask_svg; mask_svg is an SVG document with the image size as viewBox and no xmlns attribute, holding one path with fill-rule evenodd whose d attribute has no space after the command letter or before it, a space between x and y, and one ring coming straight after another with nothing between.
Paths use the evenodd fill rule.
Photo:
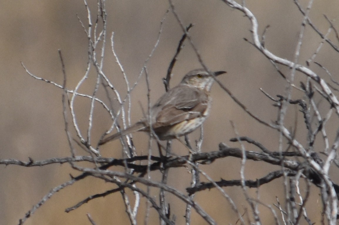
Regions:
<instances>
[{"instance_id":1,"label":"folded grey-brown wing and back of the perched bird","mask_svg":"<svg viewBox=\"0 0 339 225\"><path fill-rule=\"evenodd\" d=\"M174 87L153 106L153 113L157 116L152 126L156 129L201 117L207 107L208 96L204 91L190 87Z\"/></svg>"}]
</instances>

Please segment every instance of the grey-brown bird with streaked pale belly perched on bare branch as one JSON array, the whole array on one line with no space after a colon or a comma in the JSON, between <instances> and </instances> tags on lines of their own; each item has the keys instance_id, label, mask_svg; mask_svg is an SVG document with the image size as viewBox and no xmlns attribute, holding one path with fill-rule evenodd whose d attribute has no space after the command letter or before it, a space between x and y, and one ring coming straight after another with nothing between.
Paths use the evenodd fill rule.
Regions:
<instances>
[{"instance_id":1,"label":"grey-brown bird with streaked pale belly perched on bare branch","mask_svg":"<svg viewBox=\"0 0 339 225\"><path fill-rule=\"evenodd\" d=\"M151 107L150 116L102 139L99 146L136 131L153 130L161 141L178 139L193 132L210 114L212 105L210 91L214 76L224 73L226 72L217 71L210 74L205 69L188 72L177 86L169 89Z\"/></svg>"}]
</instances>

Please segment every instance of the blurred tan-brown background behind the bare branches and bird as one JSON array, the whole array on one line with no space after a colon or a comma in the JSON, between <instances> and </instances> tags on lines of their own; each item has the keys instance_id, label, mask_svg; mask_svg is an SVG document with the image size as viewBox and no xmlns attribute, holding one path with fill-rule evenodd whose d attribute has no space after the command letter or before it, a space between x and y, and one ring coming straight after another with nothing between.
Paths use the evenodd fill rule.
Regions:
<instances>
[{"instance_id":1,"label":"blurred tan-brown background behind the bare branches and bird","mask_svg":"<svg viewBox=\"0 0 339 225\"><path fill-rule=\"evenodd\" d=\"M92 19L96 19L96 1L88 0L92 12ZM307 1L300 1L306 8ZM202 59L211 70L225 70L227 74L219 80L232 91L232 93L265 121L275 121L277 109L273 102L260 92L262 88L271 96L283 94L284 79L277 73L272 64L251 44L243 38L251 39L250 23L243 14L233 10L222 1L216 0L175 0L179 17L184 25L195 24L190 33L197 46ZM266 25L270 28L266 32L265 46L274 54L293 60L298 40L302 15L293 1L264 1L247 0L246 6L254 13L259 22L259 33ZM167 1L107 1L107 35L106 55L103 71L117 87L122 96L126 95L125 83L110 48L110 36L114 32L115 51L123 65L129 81L136 82L144 62L153 49L160 28L160 21L165 15L169 4ZM329 24L325 14L334 25L339 27L338 1L314 1L310 18L322 33L326 33ZM61 49L66 74L67 87L74 89L77 82L83 77L87 65L87 38L77 18L86 25L87 10L83 1L2 1L0 7L0 159L19 159L27 161L28 157L34 160L43 160L53 157L67 157L70 155L64 132L62 115L62 90L52 84L36 80L29 76L21 66L21 61L27 69L38 77L62 84L63 75L58 49ZM169 12L163 22L159 46L147 64L150 79L151 102L154 103L164 93L162 78L165 77L169 62L171 61L182 30ZM334 40L333 32L329 36ZM305 65L305 60L315 52L321 38L310 26L306 26L299 63ZM339 54L334 52L327 44L323 46L316 57L328 70L334 79L338 80ZM180 82L182 76L196 68L200 68L199 61L188 42L185 43L178 61L173 69L171 86ZM286 68L283 72L288 74ZM314 64L310 67L320 76L328 79L327 75ZM90 77L81 87L80 92L92 94L95 86L96 74ZM296 85L305 81L305 76L297 73ZM99 93L102 94L102 93ZM294 90L293 97L300 97L302 93ZM104 96L104 95L102 95ZM230 138L236 136L230 121L235 123L240 135L247 135L261 142L268 149L277 151L279 134L276 131L263 127L236 105L232 99L215 84L212 89L214 99L210 118L204 123L205 140L203 151L215 151L218 144L239 147L230 143ZM142 110L147 108L147 87L145 76L131 94L132 123L142 117ZM78 98L76 102L78 123L82 132L86 132L88 125L88 99ZM327 112L329 105L322 102L320 105ZM299 108L290 108L286 118L286 127L293 127L295 115ZM331 119L328 123L327 134L330 143L333 141L338 128L338 119ZM304 124L302 115L297 118L297 138L304 143L306 135L303 133ZM109 115L97 107L93 128L92 142L96 142L100 135L111 124ZM191 135L192 143L199 133ZM134 143L139 155L147 153L147 134L134 135ZM284 143L287 146L287 143ZM246 146L247 150L258 151L253 146ZM323 150L321 140L317 146ZM176 154L186 155L187 150L179 143L174 143ZM112 142L101 148L106 157L121 157L119 141ZM81 149L78 155L85 154ZM157 151L154 151L157 155ZM239 179L240 160L224 158L217 160L210 166L202 167L212 178ZM267 171L278 169L268 167L266 164L248 161L246 165L246 178L255 180L265 175ZM173 169L168 183L182 191L190 185L190 174L185 168ZM42 168L26 168L20 166L0 165L0 224L17 224L20 218L32 208L45 194L55 186L69 180L69 173L78 175L68 164L49 165ZM153 174L159 179L159 174ZM332 179L339 182L339 176L333 172ZM279 189L280 187L280 189ZM70 207L88 195L112 189L112 184L87 178L56 193L47 201L25 224L89 224L86 213L90 213L98 225L112 224L127 221L125 209L120 194L91 201L71 213L64 209ZM283 201L281 180L264 185L259 189L261 200L267 204L276 203L276 196ZM245 211L244 197L238 188L225 188L227 194L237 203L239 209ZM252 190L250 190L252 192ZM254 193L255 190L253 190ZM254 193L255 194L255 193ZM321 203L318 202L318 190L312 188L315 198L313 208L310 208L310 218L314 222L320 221ZM255 196L255 195L254 195ZM169 197L171 213L177 217L178 224L184 222L184 204L174 197ZM235 224L237 217L220 193L211 190L206 194L196 196L198 203L210 213L218 223ZM140 210L144 210L144 202ZM243 212L241 211L241 212ZM194 214L194 216L196 216ZM266 218L265 223L273 221L272 214L261 214ZM140 222L143 221L140 213ZM156 214L149 218L152 224L158 223ZM192 224L202 222L199 217L193 218Z\"/></svg>"}]
</instances>

